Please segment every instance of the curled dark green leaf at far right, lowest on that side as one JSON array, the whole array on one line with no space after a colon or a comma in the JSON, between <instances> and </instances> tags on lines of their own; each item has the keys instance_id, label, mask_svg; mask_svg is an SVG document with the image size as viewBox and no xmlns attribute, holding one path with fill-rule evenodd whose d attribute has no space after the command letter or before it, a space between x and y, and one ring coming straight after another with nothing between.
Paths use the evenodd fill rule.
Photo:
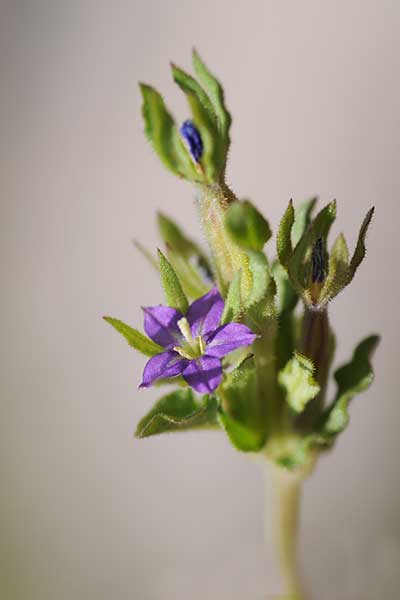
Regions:
<instances>
[{"instance_id":1,"label":"curled dark green leaf at far right, lowest on that side","mask_svg":"<svg viewBox=\"0 0 400 600\"><path fill-rule=\"evenodd\" d=\"M350 418L349 402L356 394L367 390L374 379L370 361L378 342L377 335L363 340L355 349L351 361L335 372L338 389L335 400L327 411L322 429L324 434L335 435L347 426Z\"/></svg>"}]
</instances>

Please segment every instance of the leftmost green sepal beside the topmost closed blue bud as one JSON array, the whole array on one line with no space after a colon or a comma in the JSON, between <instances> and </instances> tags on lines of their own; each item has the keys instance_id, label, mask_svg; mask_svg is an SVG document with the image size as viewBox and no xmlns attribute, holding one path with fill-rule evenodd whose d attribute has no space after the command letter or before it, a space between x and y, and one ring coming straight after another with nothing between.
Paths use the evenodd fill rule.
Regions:
<instances>
[{"instance_id":1,"label":"leftmost green sepal beside the topmost closed blue bud","mask_svg":"<svg viewBox=\"0 0 400 600\"><path fill-rule=\"evenodd\" d=\"M197 177L195 166L161 94L144 83L140 84L140 91L143 97L145 134L155 152L175 175L195 179Z\"/></svg>"}]
</instances>

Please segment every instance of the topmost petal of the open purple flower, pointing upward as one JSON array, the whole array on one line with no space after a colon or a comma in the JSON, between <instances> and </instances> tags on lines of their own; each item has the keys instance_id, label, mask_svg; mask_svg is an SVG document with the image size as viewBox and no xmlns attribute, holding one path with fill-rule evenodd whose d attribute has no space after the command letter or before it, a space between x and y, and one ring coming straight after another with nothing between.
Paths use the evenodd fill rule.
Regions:
<instances>
[{"instance_id":1,"label":"topmost petal of the open purple flower, pointing upward","mask_svg":"<svg viewBox=\"0 0 400 600\"><path fill-rule=\"evenodd\" d=\"M219 325L223 310L224 301L216 287L195 300L186 314L193 337L214 331Z\"/></svg>"}]
</instances>

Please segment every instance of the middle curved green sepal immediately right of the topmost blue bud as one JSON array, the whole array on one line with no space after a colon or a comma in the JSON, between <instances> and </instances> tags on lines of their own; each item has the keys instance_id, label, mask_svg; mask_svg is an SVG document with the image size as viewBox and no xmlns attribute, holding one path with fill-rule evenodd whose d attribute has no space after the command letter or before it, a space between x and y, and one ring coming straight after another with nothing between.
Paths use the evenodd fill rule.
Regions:
<instances>
[{"instance_id":1,"label":"middle curved green sepal immediately right of the topmost blue bud","mask_svg":"<svg viewBox=\"0 0 400 600\"><path fill-rule=\"evenodd\" d=\"M197 181L215 183L220 180L224 169L224 151L218 133L217 119L211 100L199 83L188 73L171 64L175 83L185 93L193 115L193 122L200 132L203 142L201 168Z\"/></svg>"}]
</instances>

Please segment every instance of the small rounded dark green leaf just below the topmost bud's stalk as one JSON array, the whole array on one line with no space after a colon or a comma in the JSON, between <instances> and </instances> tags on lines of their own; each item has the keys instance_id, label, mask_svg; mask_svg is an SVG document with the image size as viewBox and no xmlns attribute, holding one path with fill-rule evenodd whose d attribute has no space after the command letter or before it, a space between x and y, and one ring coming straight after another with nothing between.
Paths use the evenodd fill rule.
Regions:
<instances>
[{"instance_id":1,"label":"small rounded dark green leaf just below the topmost bud's stalk","mask_svg":"<svg viewBox=\"0 0 400 600\"><path fill-rule=\"evenodd\" d=\"M242 248L260 252L272 233L268 221L251 202L233 202L226 213L226 227Z\"/></svg>"}]
</instances>

